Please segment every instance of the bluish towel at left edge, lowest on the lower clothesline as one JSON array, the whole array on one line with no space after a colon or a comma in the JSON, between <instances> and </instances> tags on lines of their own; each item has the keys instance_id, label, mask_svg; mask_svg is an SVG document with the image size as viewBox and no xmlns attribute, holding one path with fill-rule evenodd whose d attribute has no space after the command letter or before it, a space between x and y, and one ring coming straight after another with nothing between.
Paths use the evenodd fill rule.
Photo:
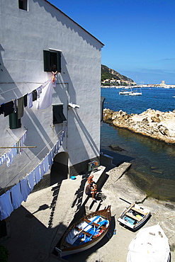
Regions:
<instances>
[{"instance_id":1,"label":"bluish towel at left edge, lowest on the lower clothesline","mask_svg":"<svg viewBox=\"0 0 175 262\"><path fill-rule=\"evenodd\" d=\"M13 205L11 204L11 195L8 190L0 196L0 220L5 220L6 217L9 217L12 211Z\"/></svg>"}]
</instances>

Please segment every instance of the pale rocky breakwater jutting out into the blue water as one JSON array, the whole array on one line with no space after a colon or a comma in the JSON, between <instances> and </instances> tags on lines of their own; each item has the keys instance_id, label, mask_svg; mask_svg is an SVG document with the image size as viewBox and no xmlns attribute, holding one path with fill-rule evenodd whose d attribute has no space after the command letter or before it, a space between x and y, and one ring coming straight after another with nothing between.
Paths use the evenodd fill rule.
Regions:
<instances>
[{"instance_id":1,"label":"pale rocky breakwater jutting out into the blue water","mask_svg":"<svg viewBox=\"0 0 175 262\"><path fill-rule=\"evenodd\" d=\"M103 122L112 123L115 127L127 128L132 132L175 144L175 110L161 112L147 109L141 114L128 114L123 110L103 110Z\"/></svg>"}]
</instances>

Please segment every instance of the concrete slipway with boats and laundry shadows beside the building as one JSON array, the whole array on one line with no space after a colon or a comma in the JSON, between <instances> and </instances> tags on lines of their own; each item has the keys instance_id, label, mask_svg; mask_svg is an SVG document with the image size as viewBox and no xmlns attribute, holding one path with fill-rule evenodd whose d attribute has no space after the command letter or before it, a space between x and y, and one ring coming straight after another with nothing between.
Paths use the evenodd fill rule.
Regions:
<instances>
[{"instance_id":1,"label":"concrete slipway with boats and laundry shadows beside the building","mask_svg":"<svg viewBox=\"0 0 175 262\"><path fill-rule=\"evenodd\" d=\"M77 179L64 180L61 186L55 184L49 188L31 193L26 203L11 214L11 237L4 239L2 245L9 249L9 262L124 262L128 254L128 245L137 232L130 232L118 224L117 218L128 206L120 200L130 202L145 199L146 195L136 188L123 173L130 166L123 163L106 172L104 166L94 171L94 181L101 188L101 199L95 205L87 201L84 186L89 174L77 176ZM107 180L106 180L107 179ZM106 181L106 183L103 182ZM85 202L84 202L85 201ZM69 223L77 218L78 210L85 203L86 212L111 205L112 222L108 235L93 248L65 258L57 258L53 251ZM173 205L145 200L144 206L152 211L152 217L144 227L161 225L171 245L171 261L175 259L175 212ZM169 208L170 207L170 208ZM89 210L90 209L90 210ZM162 214L163 211L163 214ZM162 214L160 216L160 214ZM116 234L113 234L116 229Z\"/></svg>"}]
</instances>

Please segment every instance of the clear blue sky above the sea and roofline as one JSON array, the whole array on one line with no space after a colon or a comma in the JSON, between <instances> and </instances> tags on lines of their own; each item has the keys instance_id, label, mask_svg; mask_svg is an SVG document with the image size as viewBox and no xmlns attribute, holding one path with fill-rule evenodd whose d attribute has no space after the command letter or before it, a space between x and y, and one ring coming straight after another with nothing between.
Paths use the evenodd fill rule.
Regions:
<instances>
[{"instance_id":1,"label":"clear blue sky above the sea and roofline","mask_svg":"<svg viewBox=\"0 0 175 262\"><path fill-rule=\"evenodd\" d=\"M101 64L137 83L175 84L174 0L49 0L105 45Z\"/></svg>"}]
</instances>

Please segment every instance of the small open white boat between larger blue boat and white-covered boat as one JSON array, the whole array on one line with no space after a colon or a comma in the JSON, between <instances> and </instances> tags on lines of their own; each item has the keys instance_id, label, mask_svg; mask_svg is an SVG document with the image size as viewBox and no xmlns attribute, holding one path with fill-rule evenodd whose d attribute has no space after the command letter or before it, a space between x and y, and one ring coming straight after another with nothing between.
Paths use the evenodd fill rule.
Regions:
<instances>
[{"instance_id":1,"label":"small open white boat between larger blue boat and white-covered boat","mask_svg":"<svg viewBox=\"0 0 175 262\"><path fill-rule=\"evenodd\" d=\"M145 224L150 215L150 210L132 203L121 213L120 217L118 217L118 222L125 227L136 230L141 227L142 224Z\"/></svg>"}]
</instances>

